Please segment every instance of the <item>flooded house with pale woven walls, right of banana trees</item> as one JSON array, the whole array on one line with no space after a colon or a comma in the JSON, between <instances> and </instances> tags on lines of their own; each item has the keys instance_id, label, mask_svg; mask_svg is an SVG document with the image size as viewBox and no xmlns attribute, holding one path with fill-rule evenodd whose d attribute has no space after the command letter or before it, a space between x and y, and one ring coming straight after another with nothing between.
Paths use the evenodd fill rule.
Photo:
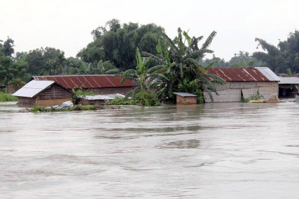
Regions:
<instances>
[{"instance_id":1,"label":"flooded house with pale woven walls, right of banana trees","mask_svg":"<svg viewBox=\"0 0 299 199\"><path fill-rule=\"evenodd\" d=\"M267 67L257 68L210 68L209 74L218 75L226 84L214 84L217 93L212 93L214 102L241 101L242 97L249 98L259 91L268 100L270 95L278 95L280 78ZM205 102L212 102L207 92L203 92Z\"/></svg>"}]
</instances>

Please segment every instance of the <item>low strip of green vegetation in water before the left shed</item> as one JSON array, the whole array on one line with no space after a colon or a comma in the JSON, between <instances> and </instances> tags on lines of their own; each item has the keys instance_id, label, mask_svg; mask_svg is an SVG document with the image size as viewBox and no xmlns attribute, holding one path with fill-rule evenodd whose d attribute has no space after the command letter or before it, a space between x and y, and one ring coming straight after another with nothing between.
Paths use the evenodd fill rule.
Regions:
<instances>
[{"instance_id":1,"label":"low strip of green vegetation in water before the left shed","mask_svg":"<svg viewBox=\"0 0 299 199\"><path fill-rule=\"evenodd\" d=\"M62 111L78 111L78 110L100 110L100 109L118 109L119 106L98 106L98 105L74 105L73 107L67 107L62 109L46 108L40 105L34 105L30 112L62 112Z\"/></svg>"}]
</instances>

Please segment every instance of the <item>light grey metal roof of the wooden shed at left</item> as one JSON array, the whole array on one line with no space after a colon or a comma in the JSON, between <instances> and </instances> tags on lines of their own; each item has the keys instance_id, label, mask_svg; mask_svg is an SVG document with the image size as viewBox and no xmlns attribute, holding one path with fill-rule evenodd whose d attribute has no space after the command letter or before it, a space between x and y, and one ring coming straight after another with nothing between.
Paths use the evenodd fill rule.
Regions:
<instances>
[{"instance_id":1,"label":"light grey metal roof of the wooden shed at left","mask_svg":"<svg viewBox=\"0 0 299 199\"><path fill-rule=\"evenodd\" d=\"M54 84L54 81L36 81L32 80L28 82L25 86L20 88L18 91L16 91L12 96L17 97L26 97L26 98L33 98L52 84Z\"/></svg>"}]
</instances>

